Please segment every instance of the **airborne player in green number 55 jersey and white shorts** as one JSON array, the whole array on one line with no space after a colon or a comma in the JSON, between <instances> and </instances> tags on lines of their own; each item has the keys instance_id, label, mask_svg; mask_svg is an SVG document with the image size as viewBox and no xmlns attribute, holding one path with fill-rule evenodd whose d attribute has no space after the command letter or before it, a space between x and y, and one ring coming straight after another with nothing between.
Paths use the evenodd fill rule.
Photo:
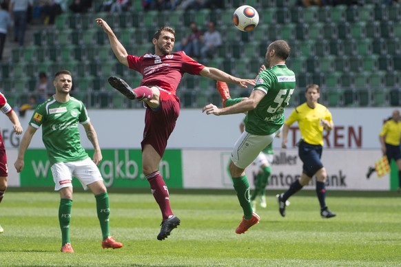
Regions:
<instances>
[{"instance_id":1,"label":"airborne player in green number 55 jersey and white shorts","mask_svg":"<svg viewBox=\"0 0 401 267\"><path fill-rule=\"evenodd\" d=\"M274 41L267 47L267 69L256 78L256 85L249 98L229 98L226 86L227 90L221 88L226 91L225 94L220 93L225 107L218 108L213 104L203 107L203 112L216 116L247 112L245 131L234 145L229 164L234 189L244 212L243 220L236 228L238 234L245 233L260 220L249 200L245 168L273 141L284 124L284 108L295 88L295 74L285 65L289 52L290 47L286 41Z\"/></svg>"}]
</instances>

